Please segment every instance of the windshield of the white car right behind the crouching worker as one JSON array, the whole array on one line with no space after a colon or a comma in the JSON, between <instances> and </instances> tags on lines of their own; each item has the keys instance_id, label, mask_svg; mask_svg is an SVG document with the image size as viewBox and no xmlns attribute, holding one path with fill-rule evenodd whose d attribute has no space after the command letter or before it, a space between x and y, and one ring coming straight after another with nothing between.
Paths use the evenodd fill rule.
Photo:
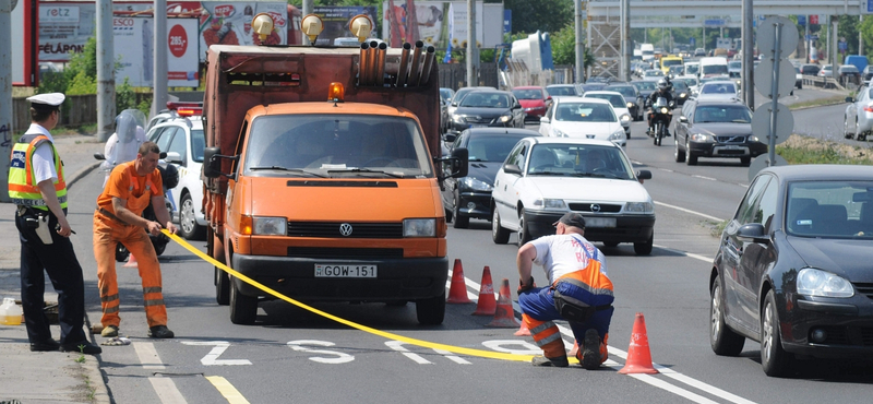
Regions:
<instances>
[{"instance_id":1,"label":"windshield of the white car right behind the crouching worker","mask_svg":"<svg viewBox=\"0 0 873 404\"><path fill-rule=\"evenodd\" d=\"M537 144L527 174L634 179L633 167L619 147L594 144Z\"/></svg>"}]
</instances>

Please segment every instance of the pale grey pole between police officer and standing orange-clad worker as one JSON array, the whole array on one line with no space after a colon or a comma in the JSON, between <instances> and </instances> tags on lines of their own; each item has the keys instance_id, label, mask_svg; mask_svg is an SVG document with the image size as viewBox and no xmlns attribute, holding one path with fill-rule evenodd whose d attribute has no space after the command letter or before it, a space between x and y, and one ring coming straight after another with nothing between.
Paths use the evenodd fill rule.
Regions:
<instances>
[{"instance_id":1,"label":"pale grey pole between police officer and standing orange-clad worker","mask_svg":"<svg viewBox=\"0 0 873 404\"><path fill-rule=\"evenodd\" d=\"M112 35L112 0L97 0L97 140L100 142L106 142L115 132L116 52Z\"/></svg>"}]
</instances>

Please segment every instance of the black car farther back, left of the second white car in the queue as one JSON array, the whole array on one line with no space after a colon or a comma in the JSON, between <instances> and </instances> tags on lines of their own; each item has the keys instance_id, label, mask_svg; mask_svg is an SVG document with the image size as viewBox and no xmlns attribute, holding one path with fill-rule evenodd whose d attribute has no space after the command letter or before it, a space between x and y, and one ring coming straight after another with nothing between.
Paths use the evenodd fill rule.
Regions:
<instances>
[{"instance_id":1,"label":"black car farther back, left of the second white car in the queue","mask_svg":"<svg viewBox=\"0 0 873 404\"><path fill-rule=\"evenodd\" d=\"M511 92L476 90L465 95L450 116L449 129L503 127L524 128L525 110Z\"/></svg>"}]
</instances>

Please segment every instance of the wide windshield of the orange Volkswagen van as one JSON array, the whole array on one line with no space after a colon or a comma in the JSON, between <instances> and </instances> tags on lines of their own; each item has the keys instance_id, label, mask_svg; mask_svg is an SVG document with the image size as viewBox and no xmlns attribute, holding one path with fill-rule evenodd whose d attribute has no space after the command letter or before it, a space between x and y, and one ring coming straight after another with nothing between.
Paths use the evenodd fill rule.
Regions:
<instances>
[{"instance_id":1,"label":"wide windshield of the orange Volkswagen van","mask_svg":"<svg viewBox=\"0 0 873 404\"><path fill-rule=\"evenodd\" d=\"M424 138L409 118L275 115L252 121L246 175L431 178Z\"/></svg>"}]
</instances>

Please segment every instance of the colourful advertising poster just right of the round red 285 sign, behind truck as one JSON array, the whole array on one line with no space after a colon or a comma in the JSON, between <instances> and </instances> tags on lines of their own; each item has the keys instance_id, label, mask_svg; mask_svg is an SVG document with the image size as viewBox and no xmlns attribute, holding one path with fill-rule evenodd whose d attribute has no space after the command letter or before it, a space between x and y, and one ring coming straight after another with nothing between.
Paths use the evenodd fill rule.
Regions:
<instances>
[{"instance_id":1,"label":"colourful advertising poster just right of the round red 285 sign, behind truck","mask_svg":"<svg viewBox=\"0 0 873 404\"><path fill-rule=\"evenodd\" d=\"M212 45L283 45L288 35L288 5L266 2L203 1L200 17L200 60L206 60ZM273 33L261 41L252 29L252 17L267 13L273 17Z\"/></svg>"}]
</instances>

